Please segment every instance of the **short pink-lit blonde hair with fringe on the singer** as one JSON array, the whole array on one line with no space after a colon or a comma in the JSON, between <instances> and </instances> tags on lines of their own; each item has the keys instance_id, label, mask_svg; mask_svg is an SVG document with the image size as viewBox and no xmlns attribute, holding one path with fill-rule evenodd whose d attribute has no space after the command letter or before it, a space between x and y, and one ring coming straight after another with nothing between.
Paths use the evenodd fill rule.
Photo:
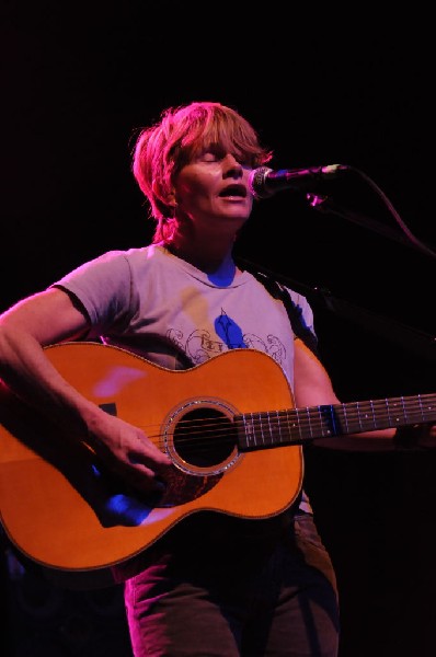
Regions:
<instances>
[{"instance_id":1,"label":"short pink-lit blonde hair with fringe on the singer","mask_svg":"<svg viewBox=\"0 0 436 657\"><path fill-rule=\"evenodd\" d=\"M253 169L268 162L250 123L236 110L213 102L194 102L170 107L160 120L140 130L133 150L131 169L158 221L153 242L170 241L175 224L168 199L179 171L205 147L217 145L248 162Z\"/></svg>"}]
</instances>

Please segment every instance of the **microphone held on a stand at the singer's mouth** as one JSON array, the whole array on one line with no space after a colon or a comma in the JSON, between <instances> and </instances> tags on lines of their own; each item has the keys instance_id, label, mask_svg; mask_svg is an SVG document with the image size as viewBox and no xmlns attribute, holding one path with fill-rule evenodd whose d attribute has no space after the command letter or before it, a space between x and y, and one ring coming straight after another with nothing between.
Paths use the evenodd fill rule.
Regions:
<instances>
[{"instance_id":1,"label":"microphone held on a stand at the singer's mouth","mask_svg":"<svg viewBox=\"0 0 436 657\"><path fill-rule=\"evenodd\" d=\"M282 189L303 192L313 189L313 184L333 177L339 171L347 171L345 164L328 164L309 169L280 169L273 171L267 166L253 169L249 177L249 188L255 198L268 198Z\"/></svg>"}]
</instances>

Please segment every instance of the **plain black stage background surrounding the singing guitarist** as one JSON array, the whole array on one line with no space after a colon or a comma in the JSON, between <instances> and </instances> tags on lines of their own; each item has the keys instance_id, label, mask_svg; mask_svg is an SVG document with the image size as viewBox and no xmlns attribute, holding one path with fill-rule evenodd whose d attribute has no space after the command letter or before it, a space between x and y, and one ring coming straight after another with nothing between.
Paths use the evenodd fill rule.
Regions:
<instances>
[{"instance_id":1,"label":"plain black stage background surrounding the singing guitarist","mask_svg":"<svg viewBox=\"0 0 436 657\"><path fill-rule=\"evenodd\" d=\"M220 101L259 130L274 169L353 168L313 189L324 211L289 191L260 201L238 244L308 293L339 395L434 391L431 18L291 7L2 2L0 310L148 242L135 131L169 105ZM435 459L308 450L341 657L435 654ZM4 552L11 655L129 655L118 589L47 588Z\"/></svg>"}]
</instances>

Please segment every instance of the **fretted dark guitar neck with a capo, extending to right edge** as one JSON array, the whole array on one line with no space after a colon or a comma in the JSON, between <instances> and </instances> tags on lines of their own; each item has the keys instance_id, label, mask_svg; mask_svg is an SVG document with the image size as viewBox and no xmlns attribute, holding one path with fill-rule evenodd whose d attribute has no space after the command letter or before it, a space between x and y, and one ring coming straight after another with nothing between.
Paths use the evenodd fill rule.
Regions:
<instances>
[{"instance_id":1,"label":"fretted dark guitar neck with a capo, extending to right edge","mask_svg":"<svg viewBox=\"0 0 436 657\"><path fill-rule=\"evenodd\" d=\"M241 451L302 445L315 438L362 434L436 420L436 394L243 413L234 417Z\"/></svg>"}]
</instances>

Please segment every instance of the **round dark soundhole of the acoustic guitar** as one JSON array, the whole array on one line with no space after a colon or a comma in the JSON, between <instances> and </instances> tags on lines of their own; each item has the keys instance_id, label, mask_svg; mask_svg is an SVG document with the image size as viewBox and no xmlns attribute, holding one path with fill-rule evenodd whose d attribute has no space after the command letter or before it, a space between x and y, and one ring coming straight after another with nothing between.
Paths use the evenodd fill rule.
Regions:
<instances>
[{"instance_id":1,"label":"round dark soundhole of the acoustic guitar","mask_svg":"<svg viewBox=\"0 0 436 657\"><path fill-rule=\"evenodd\" d=\"M226 461L236 445L233 424L215 408L190 411L174 430L177 454L196 468L210 468Z\"/></svg>"}]
</instances>

